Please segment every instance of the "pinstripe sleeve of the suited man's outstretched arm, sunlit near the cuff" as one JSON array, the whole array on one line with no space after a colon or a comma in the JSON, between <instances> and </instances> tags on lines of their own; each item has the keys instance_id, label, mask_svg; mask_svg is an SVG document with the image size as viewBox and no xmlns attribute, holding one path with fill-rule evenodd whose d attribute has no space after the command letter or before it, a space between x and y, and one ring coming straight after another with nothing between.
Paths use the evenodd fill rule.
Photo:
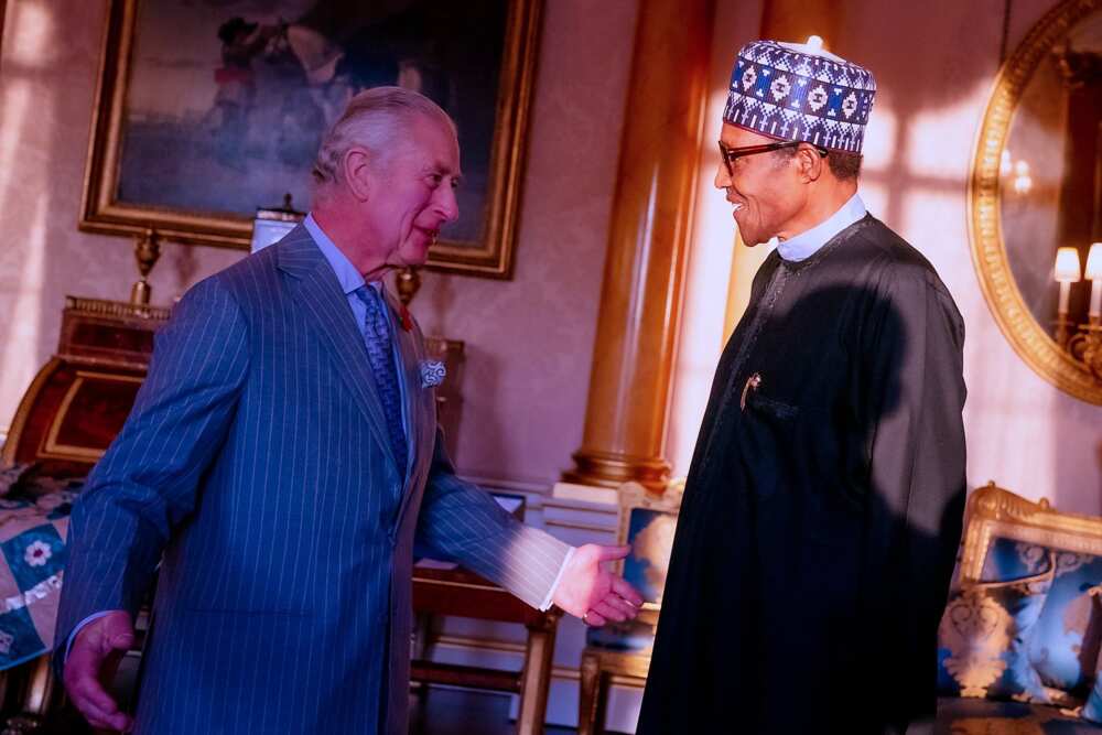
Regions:
<instances>
[{"instance_id":1,"label":"pinstripe sleeve of the suited man's outstretched arm, sunlit near the cuff","mask_svg":"<svg viewBox=\"0 0 1102 735\"><path fill-rule=\"evenodd\" d=\"M570 545L529 528L488 493L455 476L440 430L418 517L417 543L540 607L566 561Z\"/></svg>"}]
</instances>

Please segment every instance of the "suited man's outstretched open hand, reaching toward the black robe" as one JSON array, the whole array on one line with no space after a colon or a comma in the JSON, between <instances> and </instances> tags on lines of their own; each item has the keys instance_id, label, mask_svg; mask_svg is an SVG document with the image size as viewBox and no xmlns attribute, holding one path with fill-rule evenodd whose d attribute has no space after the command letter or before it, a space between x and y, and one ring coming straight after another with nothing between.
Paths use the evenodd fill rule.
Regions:
<instances>
[{"instance_id":1,"label":"suited man's outstretched open hand, reaching toward the black robe","mask_svg":"<svg viewBox=\"0 0 1102 735\"><path fill-rule=\"evenodd\" d=\"M639 613L642 597L635 587L605 569L605 562L624 559L631 547L587 543L574 550L555 588L553 602L586 625L629 620Z\"/></svg>"}]
</instances>

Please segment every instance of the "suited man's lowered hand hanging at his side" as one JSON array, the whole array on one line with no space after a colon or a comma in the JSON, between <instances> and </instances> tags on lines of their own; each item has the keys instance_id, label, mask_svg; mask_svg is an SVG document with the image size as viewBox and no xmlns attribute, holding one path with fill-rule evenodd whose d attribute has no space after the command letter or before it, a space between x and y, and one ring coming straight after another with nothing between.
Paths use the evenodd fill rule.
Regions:
<instances>
[{"instance_id":1,"label":"suited man's lowered hand hanging at his side","mask_svg":"<svg viewBox=\"0 0 1102 735\"><path fill-rule=\"evenodd\" d=\"M87 624L65 658L65 691L93 727L127 732L133 722L111 699L104 682L115 677L119 660L134 645L129 613L114 610Z\"/></svg>"}]
</instances>

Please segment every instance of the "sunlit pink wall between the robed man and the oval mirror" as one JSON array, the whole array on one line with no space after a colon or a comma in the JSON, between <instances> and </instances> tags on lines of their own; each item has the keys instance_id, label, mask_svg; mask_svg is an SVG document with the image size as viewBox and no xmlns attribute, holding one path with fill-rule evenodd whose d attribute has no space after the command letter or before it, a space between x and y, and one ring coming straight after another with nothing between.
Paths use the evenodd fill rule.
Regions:
<instances>
[{"instance_id":1,"label":"sunlit pink wall between the robed man and the oval mirror","mask_svg":"<svg viewBox=\"0 0 1102 735\"><path fill-rule=\"evenodd\" d=\"M1013 3L1009 52L1054 4ZM1001 2L847 2L838 48L875 71L878 111L893 120L878 131L892 144L867 176L871 207L930 258L964 315L970 483L995 479L1100 514L1102 408L1057 390L1017 357L971 262L965 192L1002 22Z\"/></svg>"}]
</instances>

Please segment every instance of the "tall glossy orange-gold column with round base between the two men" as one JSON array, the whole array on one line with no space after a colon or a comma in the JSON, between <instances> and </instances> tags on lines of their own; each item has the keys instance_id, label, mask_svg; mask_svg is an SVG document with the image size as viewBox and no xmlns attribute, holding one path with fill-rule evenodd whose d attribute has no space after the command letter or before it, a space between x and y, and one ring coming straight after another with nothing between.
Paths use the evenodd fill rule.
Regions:
<instances>
[{"instance_id":1,"label":"tall glossy orange-gold column with round base between the two men","mask_svg":"<svg viewBox=\"0 0 1102 735\"><path fill-rule=\"evenodd\" d=\"M570 483L663 486L712 0L640 0L582 447Z\"/></svg>"}]
</instances>

